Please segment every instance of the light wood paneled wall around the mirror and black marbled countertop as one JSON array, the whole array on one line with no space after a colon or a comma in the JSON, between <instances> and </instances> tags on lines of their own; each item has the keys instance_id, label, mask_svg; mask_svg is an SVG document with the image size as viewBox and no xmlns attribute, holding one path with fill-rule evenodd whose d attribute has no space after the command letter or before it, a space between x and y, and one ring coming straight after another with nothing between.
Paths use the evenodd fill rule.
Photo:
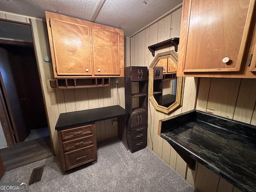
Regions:
<instances>
[{"instance_id":1,"label":"light wood paneled wall around the mirror and black marbled countertop","mask_svg":"<svg viewBox=\"0 0 256 192\"><path fill-rule=\"evenodd\" d=\"M133 36L130 39L130 65L150 66L154 57L147 47L169 38L179 37L180 20L181 8ZM158 48L155 55L172 49L173 46L163 46ZM192 110L195 104L198 110L256 124L256 91L253 88L256 80L200 78L196 100L198 80L185 78L183 105L171 114L158 112L149 101L148 147L194 185L198 192L239 192L240 190L202 164L197 163L194 171L188 168L170 144L157 134L160 119Z\"/></svg>"}]
</instances>

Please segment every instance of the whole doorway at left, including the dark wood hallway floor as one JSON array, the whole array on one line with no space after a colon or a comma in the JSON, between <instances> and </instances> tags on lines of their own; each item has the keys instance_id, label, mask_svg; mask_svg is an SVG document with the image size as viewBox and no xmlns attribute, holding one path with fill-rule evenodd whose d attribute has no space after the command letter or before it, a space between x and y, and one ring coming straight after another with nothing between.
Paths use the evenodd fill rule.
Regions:
<instances>
[{"instance_id":1,"label":"whole doorway at left, including the dark wood hallway floor","mask_svg":"<svg viewBox=\"0 0 256 192\"><path fill-rule=\"evenodd\" d=\"M0 96L2 114L8 122L8 126L3 126L8 148L0 150L5 169L51 156L50 132L30 25L0 21ZM24 162L21 164L19 160L15 166L12 159L10 168L7 165L10 156L20 158L24 150L31 160L24 157ZM42 154L40 150L47 154L38 159L38 154Z\"/></svg>"}]
</instances>

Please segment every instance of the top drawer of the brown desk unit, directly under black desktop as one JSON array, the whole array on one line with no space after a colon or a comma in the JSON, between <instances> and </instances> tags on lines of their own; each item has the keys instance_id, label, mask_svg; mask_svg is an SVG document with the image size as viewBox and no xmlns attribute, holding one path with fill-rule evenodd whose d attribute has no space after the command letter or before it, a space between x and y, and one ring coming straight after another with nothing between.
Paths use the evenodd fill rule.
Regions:
<instances>
[{"instance_id":1,"label":"top drawer of the brown desk unit, directly under black desktop","mask_svg":"<svg viewBox=\"0 0 256 192\"><path fill-rule=\"evenodd\" d=\"M86 136L92 134L92 125L80 126L76 128L66 129L61 131L62 140L75 138L77 136Z\"/></svg>"}]
</instances>

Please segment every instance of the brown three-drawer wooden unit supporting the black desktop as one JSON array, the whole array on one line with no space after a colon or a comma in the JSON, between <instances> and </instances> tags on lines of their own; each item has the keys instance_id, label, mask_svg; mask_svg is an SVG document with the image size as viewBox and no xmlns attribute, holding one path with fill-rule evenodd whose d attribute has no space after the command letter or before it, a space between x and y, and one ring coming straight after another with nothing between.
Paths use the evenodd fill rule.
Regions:
<instances>
[{"instance_id":1,"label":"brown three-drawer wooden unit supporting the black desktop","mask_svg":"<svg viewBox=\"0 0 256 192\"><path fill-rule=\"evenodd\" d=\"M58 131L62 170L97 160L95 124Z\"/></svg>"}]
</instances>

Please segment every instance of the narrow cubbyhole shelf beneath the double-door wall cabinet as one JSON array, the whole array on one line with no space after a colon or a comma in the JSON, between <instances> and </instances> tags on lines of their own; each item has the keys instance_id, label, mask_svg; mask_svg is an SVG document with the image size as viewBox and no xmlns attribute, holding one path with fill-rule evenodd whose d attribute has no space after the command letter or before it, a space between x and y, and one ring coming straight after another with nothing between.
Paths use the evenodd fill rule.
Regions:
<instances>
[{"instance_id":1,"label":"narrow cubbyhole shelf beneath the double-door wall cabinet","mask_svg":"<svg viewBox=\"0 0 256 192\"><path fill-rule=\"evenodd\" d=\"M59 89L106 87L109 85L110 78L56 78L50 80L51 88Z\"/></svg>"}]
</instances>

